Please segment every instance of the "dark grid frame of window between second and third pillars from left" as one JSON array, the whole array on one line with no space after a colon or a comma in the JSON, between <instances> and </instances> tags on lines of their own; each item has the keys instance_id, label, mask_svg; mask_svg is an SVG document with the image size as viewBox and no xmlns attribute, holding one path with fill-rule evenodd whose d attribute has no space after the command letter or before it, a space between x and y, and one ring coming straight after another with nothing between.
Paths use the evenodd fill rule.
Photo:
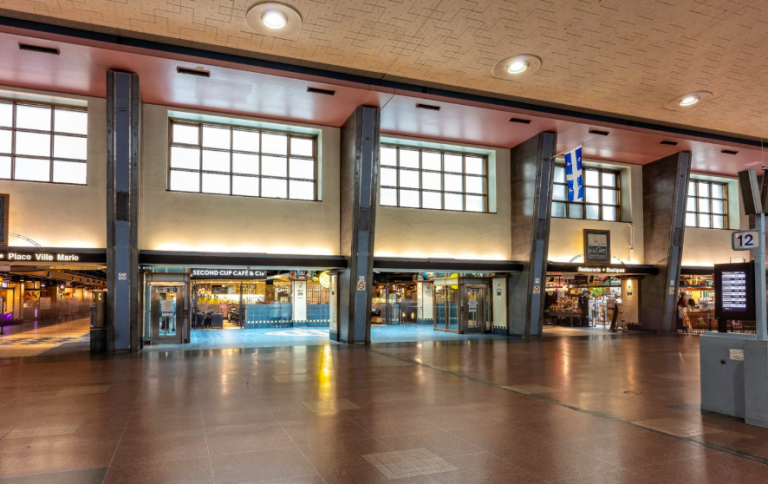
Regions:
<instances>
[{"instance_id":1,"label":"dark grid frame of window between second and third pillars from left","mask_svg":"<svg viewBox=\"0 0 768 484\"><path fill-rule=\"evenodd\" d=\"M395 149L397 152L396 155L396 164L393 165L382 165L381 164L381 156L379 156L379 174L381 174L382 169L392 169L395 170L395 176L396 176L396 183L397 186L392 185L383 185L381 182L381 176L379 176L379 183L377 189L379 190L379 197L378 197L378 205L382 207L391 207L391 208L411 208L416 210L433 210L437 212L460 212L460 213L491 213L490 212L490 203L489 203L489 167L488 167L488 155L482 154L482 153L467 153L463 151L457 151L457 150L445 150L445 149L439 149L439 148L430 148L430 147L420 147L420 146L408 146L408 145L401 145L396 143L381 143L379 147L379 155L381 155L381 150L384 148L392 148ZM419 167L418 168L411 168L411 167L401 167L400 166L400 150L410 150L410 151L417 151L419 153ZM423 163L423 154L424 152L430 152L430 153L440 153L440 170L427 170L424 169L424 163ZM461 156L461 173L459 172L452 172L452 171L445 171L445 155L455 155L455 156ZM479 158L483 160L483 174L482 175L476 175L473 173L467 173L467 157L471 158ZM400 170L405 171L411 171L411 172L417 172L419 174L419 188L410 188L410 187L401 187L400 186ZM424 173L437 173L440 175L440 190L434 190L429 188L424 188ZM445 175L460 175L461 176L461 192L454 192L450 190L445 189ZM469 193L467 192L467 181L466 177L472 176L472 177L478 177L483 179L483 193ZM395 190L395 205L383 205L381 203L381 190L382 189L391 189ZM419 193L419 206L418 207L408 207L400 205L400 190L412 190L417 191ZM424 192L429 193L440 193L440 200L441 200L441 207L442 208L428 208L424 207ZM453 195L461 195L461 210L455 210L455 209L447 209L445 208L445 195L453 194ZM467 196L479 196L483 198L483 209L482 210L467 210Z\"/></svg>"}]
</instances>

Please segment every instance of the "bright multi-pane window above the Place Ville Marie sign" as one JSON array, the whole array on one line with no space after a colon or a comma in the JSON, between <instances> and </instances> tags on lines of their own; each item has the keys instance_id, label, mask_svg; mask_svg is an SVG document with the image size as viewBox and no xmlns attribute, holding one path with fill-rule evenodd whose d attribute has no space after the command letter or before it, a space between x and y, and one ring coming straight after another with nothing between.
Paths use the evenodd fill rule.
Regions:
<instances>
[{"instance_id":1,"label":"bright multi-pane window above the Place Ville Marie sign","mask_svg":"<svg viewBox=\"0 0 768 484\"><path fill-rule=\"evenodd\" d=\"M88 112L0 99L0 179L86 184Z\"/></svg>"}]
</instances>

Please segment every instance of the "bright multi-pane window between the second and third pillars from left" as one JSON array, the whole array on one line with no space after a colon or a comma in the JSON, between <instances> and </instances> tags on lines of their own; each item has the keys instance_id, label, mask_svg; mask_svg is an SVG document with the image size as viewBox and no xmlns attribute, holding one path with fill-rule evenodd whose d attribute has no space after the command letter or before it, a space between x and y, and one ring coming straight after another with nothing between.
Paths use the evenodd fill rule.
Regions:
<instances>
[{"instance_id":1,"label":"bright multi-pane window between the second and third pillars from left","mask_svg":"<svg viewBox=\"0 0 768 484\"><path fill-rule=\"evenodd\" d=\"M381 205L488 211L485 156L382 145L379 164Z\"/></svg>"}]
</instances>

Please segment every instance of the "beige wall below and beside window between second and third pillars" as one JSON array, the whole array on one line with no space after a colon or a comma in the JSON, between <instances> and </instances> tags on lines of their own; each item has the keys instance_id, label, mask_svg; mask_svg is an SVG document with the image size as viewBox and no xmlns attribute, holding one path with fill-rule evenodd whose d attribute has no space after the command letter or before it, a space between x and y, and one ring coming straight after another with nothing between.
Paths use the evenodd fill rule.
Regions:
<instances>
[{"instance_id":1,"label":"beige wall below and beside window between second and third pillars","mask_svg":"<svg viewBox=\"0 0 768 484\"><path fill-rule=\"evenodd\" d=\"M378 207L376 257L509 260L509 150L495 152L496 213ZM490 183L491 180L489 180Z\"/></svg>"}]
</instances>

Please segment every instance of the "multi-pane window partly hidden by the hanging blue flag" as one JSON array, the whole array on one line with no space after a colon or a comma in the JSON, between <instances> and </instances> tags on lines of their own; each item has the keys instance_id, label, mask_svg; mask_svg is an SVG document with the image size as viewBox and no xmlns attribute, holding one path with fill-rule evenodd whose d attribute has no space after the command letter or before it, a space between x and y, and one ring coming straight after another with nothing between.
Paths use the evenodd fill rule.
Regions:
<instances>
[{"instance_id":1,"label":"multi-pane window partly hidden by the hanging blue flag","mask_svg":"<svg viewBox=\"0 0 768 484\"><path fill-rule=\"evenodd\" d=\"M568 201L565 165L555 165L552 187L552 216L588 220L621 220L621 178L619 172L584 167L584 197Z\"/></svg>"}]
</instances>

